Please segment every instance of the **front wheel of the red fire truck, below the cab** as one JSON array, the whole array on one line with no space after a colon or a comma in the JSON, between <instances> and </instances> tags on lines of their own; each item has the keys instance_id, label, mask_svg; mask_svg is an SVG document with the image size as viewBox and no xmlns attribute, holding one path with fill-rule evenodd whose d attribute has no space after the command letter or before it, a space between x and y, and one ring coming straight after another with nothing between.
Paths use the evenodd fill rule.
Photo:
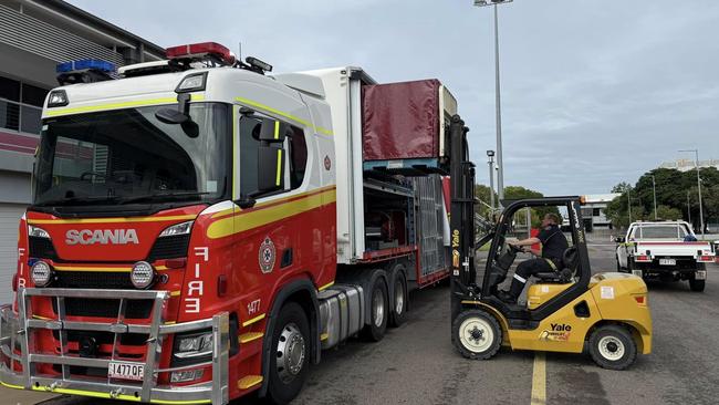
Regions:
<instances>
[{"instance_id":1,"label":"front wheel of the red fire truck, below the cab","mask_svg":"<svg viewBox=\"0 0 719 405\"><path fill-rule=\"evenodd\" d=\"M300 393L308 377L311 350L308 316L302 307L289 302L280 310L272 334L267 394L270 403L288 404Z\"/></svg>"}]
</instances>

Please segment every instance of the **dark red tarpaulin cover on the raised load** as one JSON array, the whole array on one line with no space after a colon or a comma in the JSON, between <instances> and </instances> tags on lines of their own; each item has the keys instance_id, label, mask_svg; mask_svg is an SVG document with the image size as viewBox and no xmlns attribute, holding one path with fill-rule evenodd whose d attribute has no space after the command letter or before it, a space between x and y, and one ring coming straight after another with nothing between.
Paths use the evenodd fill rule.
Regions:
<instances>
[{"instance_id":1,"label":"dark red tarpaulin cover on the raised load","mask_svg":"<svg viewBox=\"0 0 719 405\"><path fill-rule=\"evenodd\" d=\"M430 79L363 86L364 160L438 157L439 85Z\"/></svg>"}]
</instances>

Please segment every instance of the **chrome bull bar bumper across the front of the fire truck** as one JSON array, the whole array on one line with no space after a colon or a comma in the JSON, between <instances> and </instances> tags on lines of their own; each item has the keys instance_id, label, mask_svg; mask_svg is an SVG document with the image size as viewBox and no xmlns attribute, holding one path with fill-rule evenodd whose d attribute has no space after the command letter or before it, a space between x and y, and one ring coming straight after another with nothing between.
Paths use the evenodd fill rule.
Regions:
<instances>
[{"instance_id":1,"label":"chrome bull bar bumper across the front of the fire truck","mask_svg":"<svg viewBox=\"0 0 719 405\"><path fill-rule=\"evenodd\" d=\"M53 320L37 319L31 308L31 297L48 297L55 300L58 316ZM119 300L119 311L115 322L74 322L65 316L64 299L92 298ZM227 404L228 360L229 360L229 315L227 312L213 315L211 319L165 324L163 309L167 304L167 291L135 291L135 290L90 290L90 289L20 289L18 291L18 313L10 305L0 307L0 383L19 388L51 392L71 395L87 395L94 397L126 399L146 403L181 403L181 404ZM152 323L133 324L125 322L125 309L128 300L153 300ZM212 360L189 366L159 368L158 359L163 341L169 334L212 329ZM39 353L35 347L35 333L39 330L58 331L60 335L60 353ZM98 331L114 333L113 354L111 359L85 359L67 353L67 331ZM90 366L108 368L115 359L117 342L124 333L147 334L147 352L143 382L115 383L114 378L106 381L83 378L71 375L70 366ZM14 347L14 351L13 351ZM20 353L18 353L18 350ZM10 363L10 367L6 364ZM122 360L125 363L125 360ZM61 376L40 374L38 364L58 364L62 368ZM22 371L18 372L17 365ZM192 386L160 386L157 384L158 373L197 368L211 365L212 382Z\"/></svg>"}]
</instances>

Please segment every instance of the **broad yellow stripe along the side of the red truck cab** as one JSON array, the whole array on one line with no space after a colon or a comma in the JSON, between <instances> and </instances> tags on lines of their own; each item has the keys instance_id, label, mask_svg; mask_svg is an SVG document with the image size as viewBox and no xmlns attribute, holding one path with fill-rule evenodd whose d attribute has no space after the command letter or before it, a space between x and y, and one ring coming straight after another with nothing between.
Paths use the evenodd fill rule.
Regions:
<instances>
[{"instance_id":1,"label":"broad yellow stripe along the side of the red truck cab","mask_svg":"<svg viewBox=\"0 0 719 405\"><path fill-rule=\"evenodd\" d=\"M207 236L211 239L225 238L230 235L259 228L284 218L306 212L336 200L334 189L315 194L306 198L279 204L249 212L240 211L236 216L219 219L207 228Z\"/></svg>"}]
</instances>

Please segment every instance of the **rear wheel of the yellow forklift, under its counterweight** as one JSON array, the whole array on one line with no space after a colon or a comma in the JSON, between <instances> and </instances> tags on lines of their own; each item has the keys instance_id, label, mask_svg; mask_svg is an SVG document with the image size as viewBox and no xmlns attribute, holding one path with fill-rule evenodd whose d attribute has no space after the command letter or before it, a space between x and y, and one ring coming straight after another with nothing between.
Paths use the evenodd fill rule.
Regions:
<instances>
[{"instance_id":1,"label":"rear wheel of the yellow forklift, under its counterweight","mask_svg":"<svg viewBox=\"0 0 719 405\"><path fill-rule=\"evenodd\" d=\"M602 368L625 370L637 359L637 345L626 328L603 325L590 336L590 355Z\"/></svg>"}]
</instances>

